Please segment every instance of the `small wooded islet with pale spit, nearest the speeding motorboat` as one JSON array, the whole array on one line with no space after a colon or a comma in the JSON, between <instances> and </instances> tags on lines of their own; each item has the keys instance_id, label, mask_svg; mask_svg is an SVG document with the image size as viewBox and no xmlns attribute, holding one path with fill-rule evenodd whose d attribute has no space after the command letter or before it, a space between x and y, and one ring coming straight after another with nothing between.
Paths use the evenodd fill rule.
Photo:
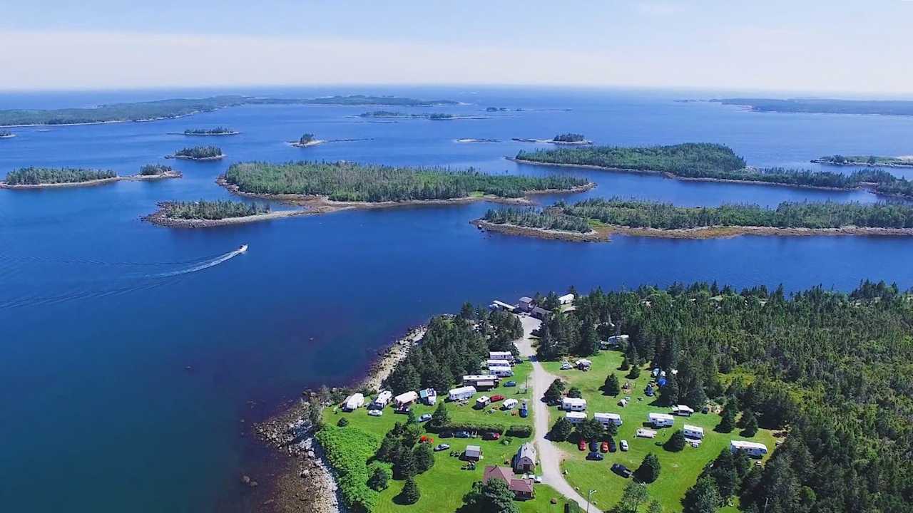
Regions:
<instances>
[{"instance_id":1,"label":"small wooded islet with pale spit, nearest the speeding motorboat","mask_svg":"<svg viewBox=\"0 0 913 513\"><path fill-rule=\"evenodd\" d=\"M303 210L274 211L268 204L228 200L161 202L158 206L158 210L151 215L146 215L143 219L155 225L175 228L236 225L307 214Z\"/></svg>"}]
</instances>

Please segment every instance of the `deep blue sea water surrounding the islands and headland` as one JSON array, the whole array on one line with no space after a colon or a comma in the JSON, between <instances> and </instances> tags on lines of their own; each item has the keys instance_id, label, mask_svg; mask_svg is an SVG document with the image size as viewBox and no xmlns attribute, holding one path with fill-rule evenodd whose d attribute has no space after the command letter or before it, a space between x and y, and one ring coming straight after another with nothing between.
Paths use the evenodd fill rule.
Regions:
<instances>
[{"instance_id":1,"label":"deep blue sea water surrounding the islands and headland","mask_svg":"<svg viewBox=\"0 0 913 513\"><path fill-rule=\"evenodd\" d=\"M0 109L203 96L214 91L0 95ZM655 176L515 165L504 156L578 131L612 144L719 141L750 164L806 166L824 154L913 152L913 119L753 113L677 103L695 93L556 89L281 89L288 97L369 92L459 99L425 111L484 120L368 122L373 108L241 107L182 120L14 129L0 174L21 166L135 173L185 145L212 141L223 162L172 162L181 180L45 191L0 190L0 509L51 512L251 510L238 485L247 426L303 388L343 383L407 327L465 300L536 290L718 280L788 289L849 289L860 279L913 286L913 241L878 237L720 240L617 237L575 244L479 233L488 204L350 211L175 230L144 223L158 201L228 198L215 177L231 162L292 159L475 166L489 173L573 173L586 195L676 204L876 201L839 193L683 183ZM713 96L708 93L708 97ZM570 110L566 110L570 109ZM420 109L409 109L417 111ZM168 132L226 125L227 138ZM303 132L335 142L283 141ZM499 143L456 143L496 138ZM542 198L551 202L554 198ZM212 258L250 250L213 267ZM189 369L187 367L189 366ZM242 419L245 422L241 422ZM242 436L242 434L247 434ZM256 477L256 476L255 476Z\"/></svg>"}]
</instances>

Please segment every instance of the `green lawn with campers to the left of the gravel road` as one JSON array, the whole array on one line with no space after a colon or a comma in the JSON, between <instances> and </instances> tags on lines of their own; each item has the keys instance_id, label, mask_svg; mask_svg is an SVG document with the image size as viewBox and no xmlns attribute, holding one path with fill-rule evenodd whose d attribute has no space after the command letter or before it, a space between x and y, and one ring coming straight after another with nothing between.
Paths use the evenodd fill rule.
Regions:
<instances>
[{"instance_id":1,"label":"green lawn with campers to the left of the gravel road","mask_svg":"<svg viewBox=\"0 0 913 513\"><path fill-rule=\"evenodd\" d=\"M531 387L530 392L527 392L524 387L524 381L531 370L532 366L529 362L517 365L514 367L515 375L513 377L502 379L501 386L484 394L488 396L500 394L508 399L517 399L520 403L522 403L523 399L530 399ZM509 381L516 381L518 386L503 386L504 382ZM480 395L482 393L477 393L476 397ZM439 392L438 401L443 401L444 399L446 399L446 391ZM492 406L484 410L476 410L471 406L474 400L475 398L466 406L447 403L447 412L450 414L451 421L455 423L505 424L506 426L510 424L532 424L531 408L530 416L524 419L520 418L519 414L516 414L518 412L517 408L512 410L513 414L501 411L499 409L501 403L493 403ZM435 408L436 406L415 404L413 410L416 416L420 416L434 413ZM383 416L380 417L368 415L365 408L359 408L351 413L342 412L339 408L327 408L324 410L323 418L327 424L335 425L343 417L349 421L350 427L357 427L382 437L396 422L405 423L407 418L403 414L394 414L393 408L390 407L385 408ZM378 513L456 511L457 508L462 506L463 496L472 488L472 484L482 479L482 472L485 466L510 466L511 458L517 452L519 446L532 439L531 437L513 438L509 445L505 445L503 441L482 440L481 438L440 438L437 434L428 433L428 435L434 437L434 445L445 443L450 445L450 449L437 452L435 454L435 466L424 474L415 477L415 482L421 491L421 498L418 502L409 506L396 504L394 497L399 495L403 489L404 481L391 480L390 487L380 494L376 509ZM479 445L482 447L484 459L477 464L475 470L464 470L462 467L466 463L459 459L458 456L450 455L451 451L462 453L467 445ZM520 510L524 513L550 512L550 507L554 508L555 511L561 511L562 500L559 500L559 504L551 505L551 497L560 496L551 487L537 485L536 498L530 501L518 502L518 504Z\"/></svg>"}]
</instances>

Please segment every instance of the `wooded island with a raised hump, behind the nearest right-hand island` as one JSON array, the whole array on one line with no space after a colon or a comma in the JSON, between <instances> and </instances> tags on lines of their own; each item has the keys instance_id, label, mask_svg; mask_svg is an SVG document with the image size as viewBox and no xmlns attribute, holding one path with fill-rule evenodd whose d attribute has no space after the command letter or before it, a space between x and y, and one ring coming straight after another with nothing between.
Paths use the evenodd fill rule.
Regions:
<instances>
[{"instance_id":1,"label":"wooded island with a raised hump, behind the nearest right-hand island","mask_svg":"<svg viewBox=\"0 0 913 513\"><path fill-rule=\"evenodd\" d=\"M579 167L619 173L656 173L677 180L779 185L825 190L868 189L874 194L913 198L913 182L886 171L851 174L786 168L753 168L729 147L707 142L668 146L593 146L521 150L514 162Z\"/></svg>"}]
</instances>

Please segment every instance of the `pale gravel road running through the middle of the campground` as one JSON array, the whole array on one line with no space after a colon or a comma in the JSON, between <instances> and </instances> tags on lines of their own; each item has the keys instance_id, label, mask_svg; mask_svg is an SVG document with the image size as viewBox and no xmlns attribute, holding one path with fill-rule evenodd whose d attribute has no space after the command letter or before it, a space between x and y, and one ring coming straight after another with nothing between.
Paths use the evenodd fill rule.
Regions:
<instances>
[{"instance_id":1,"label":"pale gravel road running through the middle of the campground","mask_svg":"<svg viewBox=\"0 0 913 513\"><path fill-rule=\"evenodd\" d=\"M580 495L580 493L564 479L564 475L561 474L561 459L563 458L561 449L558 448L557 445L554 445L551 440L545 438L545 434L547 434L550 429L549 406L548 404L543 403L541 398L549 388L551 382L555 380L555 376L545 372L542 364L539 361L536 361L536 351L532 348L530 336L532 330L539 328L541 324L540 320L529 316L520 316L519 319L523 324L523 338L521 340L516 340L515 343L520 356L529 358L532 363L532 373L530 375L530 380L532 381L532 396L530 401L532 403L532 419L535 428L534 440L536 447L539 449L539 462L542 467L542 482L558 490L564 497L572 499L579 504L581 508L590 511L591 513L601 513L600 510L592 504L588 505L586 498ZM587 506L589 506L589 509L587 509Z\"/></svg>"}]
</instances>

